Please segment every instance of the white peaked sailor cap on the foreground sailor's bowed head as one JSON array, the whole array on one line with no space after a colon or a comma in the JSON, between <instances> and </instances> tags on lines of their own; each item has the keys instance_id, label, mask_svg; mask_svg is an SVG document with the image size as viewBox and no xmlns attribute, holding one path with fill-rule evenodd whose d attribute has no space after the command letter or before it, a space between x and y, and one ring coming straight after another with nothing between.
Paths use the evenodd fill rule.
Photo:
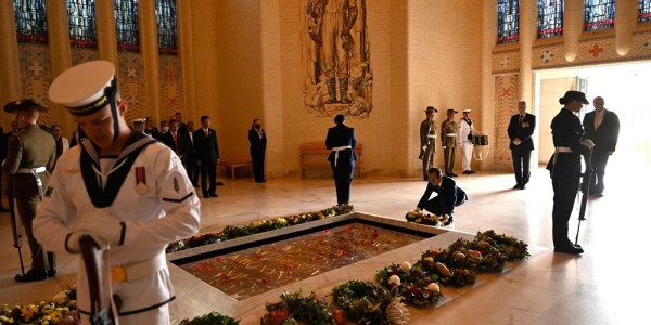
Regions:
<instances>
[{"instance_id":1,"label":"white peaked sailor cap on the foreground sailor's bowed head","mask_svg":"<svg viewBox=\"0 0 651 325\"><path fill-rule=\"evenodd\" d=\"M104 108L115 95L115 66L90 61L63 72L50 86L50 101L73 115L89 115Z\"/></svg>"}]
</instances>

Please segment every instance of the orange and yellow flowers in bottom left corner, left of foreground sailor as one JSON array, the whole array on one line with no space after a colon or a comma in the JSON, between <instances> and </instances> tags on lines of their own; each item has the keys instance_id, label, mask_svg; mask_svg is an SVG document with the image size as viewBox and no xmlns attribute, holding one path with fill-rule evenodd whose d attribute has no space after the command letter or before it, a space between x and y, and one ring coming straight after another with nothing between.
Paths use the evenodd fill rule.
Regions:
<instances>
[{"instance_id":1,"label":"orange and yellow flowers in bottom left corner, left of foreground sailor","mask_svg":"<svg viewBox=\"0 0 651 325\"><path fill-rule=\"evenodd\" d=\"M0 307L0 324L52 324L72 325L79 323L77 289L71 287L56 294L50 301Z\"/></svg>"}]
</instances>

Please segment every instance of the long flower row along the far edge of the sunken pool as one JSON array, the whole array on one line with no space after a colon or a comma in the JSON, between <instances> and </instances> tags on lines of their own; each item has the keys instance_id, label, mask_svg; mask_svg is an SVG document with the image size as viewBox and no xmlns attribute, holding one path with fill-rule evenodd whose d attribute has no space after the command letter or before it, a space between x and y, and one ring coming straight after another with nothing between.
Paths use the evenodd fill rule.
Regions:
<instances>
[{"instance_id":1,"label":"long flower row along the far edge of the sunken pool","mask_svg":"<svg viewBox=\"0 0 651 325\"><path fill-rule=\"evenodd\" d=\"M356 210L357 208L354 205L339 205L316 212L299 213L263 221L253 221L248 225L228 225L219 232L200 234L190 238L171 243L169 246L167 246L166 252L179 251L192 247L200 247L229 239L245 237L253 234L259 234L295 224L323 220L335 216L352 213Z\"/></svg>"}]
</instances>

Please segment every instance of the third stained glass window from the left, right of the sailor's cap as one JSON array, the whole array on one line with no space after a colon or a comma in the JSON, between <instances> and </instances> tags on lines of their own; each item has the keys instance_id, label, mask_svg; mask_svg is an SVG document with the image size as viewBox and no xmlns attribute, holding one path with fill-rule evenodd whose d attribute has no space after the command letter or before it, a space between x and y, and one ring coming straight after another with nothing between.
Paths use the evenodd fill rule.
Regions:
<instances>
[{"instance_id":1,"label":"third stained glass window from the left, right of the sailor's cap","mask_svg":"<svg viewBox=\"0 0 651 325\"><path fill-rule=\"evenodd\" d=\"M138 0L113 0L117 50L140 51Z\"/></svg>"}]
</instances>

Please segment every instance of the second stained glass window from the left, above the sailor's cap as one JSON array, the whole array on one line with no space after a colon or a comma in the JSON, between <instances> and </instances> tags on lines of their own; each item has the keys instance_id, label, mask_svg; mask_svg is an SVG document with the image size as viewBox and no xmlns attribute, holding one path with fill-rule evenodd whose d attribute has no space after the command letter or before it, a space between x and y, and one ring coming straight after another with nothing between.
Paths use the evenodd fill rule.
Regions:
<instances>
[{"instance_id":1,"label":"second stained glass window from the left, above the sailor's cap","mask_svg":"<svg viewBox=\"0 0 651 325\"><path fill-rule=\"evenodd\" d=\"M97 48L94 0L67 0L71 44L77 48Z\"/></svg>"}]
</instances>

